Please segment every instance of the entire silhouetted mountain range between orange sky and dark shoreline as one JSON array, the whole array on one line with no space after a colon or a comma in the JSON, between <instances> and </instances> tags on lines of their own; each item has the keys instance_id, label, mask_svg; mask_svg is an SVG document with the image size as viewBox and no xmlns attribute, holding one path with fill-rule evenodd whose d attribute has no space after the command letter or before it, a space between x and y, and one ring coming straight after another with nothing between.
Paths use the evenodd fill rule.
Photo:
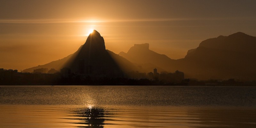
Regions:
<instances>
[{"instance_id":1,"label":"entire silhouetted mountain range between orange sky and dark shoreline","mask_svg":"<svg viewBox=\"0 0 256 128\"><path fill-rule=\"evenodd\" d=\"M158 72L182 71L186 78L256 80L256 37L238 32L202 41L188 50L185 58L173 60L149 49L149 44L134 44L127 53L118 55L106 50L100 33L93 31L75 53L37 68L70 68L73 73L96 76L120 76L127 71Z\"/></svg>"}]
</instances>

